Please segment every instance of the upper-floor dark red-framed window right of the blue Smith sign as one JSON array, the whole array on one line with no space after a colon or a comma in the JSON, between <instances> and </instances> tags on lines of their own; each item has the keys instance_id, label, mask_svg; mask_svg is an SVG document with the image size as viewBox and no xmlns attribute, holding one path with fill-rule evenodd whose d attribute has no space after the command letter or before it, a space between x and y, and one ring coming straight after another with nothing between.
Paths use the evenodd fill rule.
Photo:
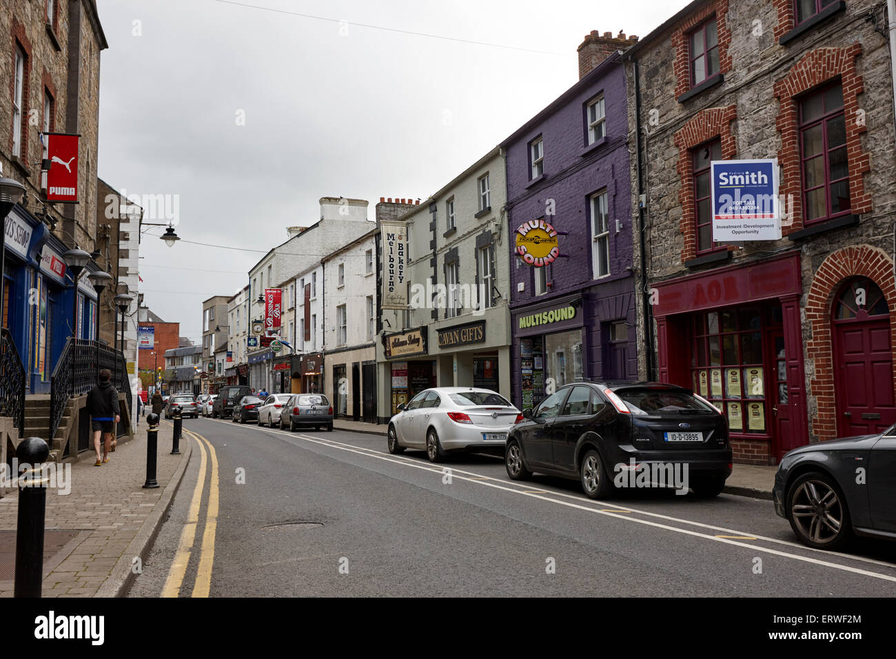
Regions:
<instances>
[{"instance_id":1,"label":"upper-floor dark red-framed window right of the blue Smith sign","mask_svg":"<svg viewBox=\"0 0 896 659\"><path fill-rule=\"evenodd\" d=\"M849 212L846 116L840 82L799 101L799 138L806 222Z\"/></svg>"}]
</instances>

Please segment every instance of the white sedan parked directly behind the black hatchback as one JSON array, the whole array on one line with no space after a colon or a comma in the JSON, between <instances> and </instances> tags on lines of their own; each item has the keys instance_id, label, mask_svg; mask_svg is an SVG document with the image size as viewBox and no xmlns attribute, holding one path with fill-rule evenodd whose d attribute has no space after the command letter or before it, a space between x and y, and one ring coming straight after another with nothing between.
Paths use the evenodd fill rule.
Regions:
<instances>
[{"instance_id":1,"label":"white sedan parked directly behind the black hatchback","mask_svg":"<svg viewBox=\"0 0 896 659\"><path fill-rule=\"evenodd\" d=\"M498 448L522 415L504 396L490 389L443 386L414 396L389 421L389 453L426 449L430 462L447 451Z\"/></svg>"}]
</instances>

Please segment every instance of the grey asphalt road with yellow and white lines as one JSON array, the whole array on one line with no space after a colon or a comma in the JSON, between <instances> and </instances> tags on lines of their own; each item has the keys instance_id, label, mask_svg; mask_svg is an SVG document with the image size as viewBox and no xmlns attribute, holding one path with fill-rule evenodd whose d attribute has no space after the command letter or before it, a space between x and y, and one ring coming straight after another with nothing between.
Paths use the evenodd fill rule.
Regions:
<instances>
[{"instance_id":1,"label":"grey asphalt road with yellow and white lines","mask_svg":"<svg viewBox=\"0 0 896 659\"><path fill-rule=\"evenodd\" d=\"M896 544L808 549L766 500L591 501L577 481L510 481L495 457L392 456L380 436L184 428L208 456L186 439L193 457L132 597L896 593Z\"/></svg>"}]
</instances>

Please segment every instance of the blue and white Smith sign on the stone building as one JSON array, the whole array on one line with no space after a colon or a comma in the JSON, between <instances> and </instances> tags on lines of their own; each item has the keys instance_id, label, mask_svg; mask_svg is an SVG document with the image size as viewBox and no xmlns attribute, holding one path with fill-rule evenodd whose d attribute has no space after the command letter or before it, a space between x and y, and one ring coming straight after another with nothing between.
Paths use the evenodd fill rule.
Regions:
<instances>
[{"instance_id":1,"label":"blue and white Smith sign on the stone building","mask_svg":"<svg viewBox=\"0 0 896 659\"><path fill-rule=\"evenodd\" d=\"M713 160L712 239L779 240L778 159Z\"/></svg>"}]
</instances>

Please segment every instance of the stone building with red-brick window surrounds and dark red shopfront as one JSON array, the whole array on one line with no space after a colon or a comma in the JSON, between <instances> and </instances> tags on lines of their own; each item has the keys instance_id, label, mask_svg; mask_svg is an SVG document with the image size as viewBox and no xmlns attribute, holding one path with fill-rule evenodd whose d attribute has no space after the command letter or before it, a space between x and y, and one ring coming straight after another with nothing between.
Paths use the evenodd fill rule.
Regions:
<instances>
[{"instance_id":1,"label":"stone building with red-brick window surrounds and dark red shopfront","mask_svg":"<svg viewBox=\"0 0 896 659\"><path fill-rule=\"evenodd\" d=\"M639 370L715 403L739 462L896 422L885 21L870 0L697 0L625 55ZM770 158L782 238L714 242L710 163Z\"/></svg>"}]
</instances>

